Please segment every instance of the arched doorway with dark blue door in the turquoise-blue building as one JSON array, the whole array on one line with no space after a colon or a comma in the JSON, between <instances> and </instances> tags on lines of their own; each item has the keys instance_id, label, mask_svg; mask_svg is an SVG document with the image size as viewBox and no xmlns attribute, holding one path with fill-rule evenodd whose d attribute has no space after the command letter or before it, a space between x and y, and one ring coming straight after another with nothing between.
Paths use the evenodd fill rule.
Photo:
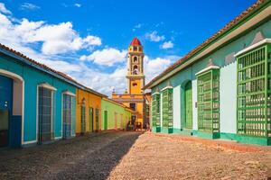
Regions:
<instances>
[{"instance_id":1,"label":"arched doorway with dark blue door in the turquoise-blue building","mask_svg":"<svg viewBox=\"0 0 271 180\"><path fill-rule=\"evenodd\" d=\"M23 78L0 69L0 148L23 144Z\"/></svg>"}]
</instances>

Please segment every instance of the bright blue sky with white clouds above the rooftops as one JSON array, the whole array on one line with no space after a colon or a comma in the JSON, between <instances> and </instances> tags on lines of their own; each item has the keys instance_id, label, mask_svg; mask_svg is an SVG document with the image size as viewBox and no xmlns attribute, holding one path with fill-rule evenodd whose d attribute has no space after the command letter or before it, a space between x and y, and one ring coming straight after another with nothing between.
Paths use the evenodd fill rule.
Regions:
<instances>
[{"instance_id":1,"label":"bright blue sky with white clouds above the rooftops","mask_svg":"<svg viewBox=\"0 0 271 180\"><path fill-rule=\"evenodd\" d=\"M148 81L254 2L5 0L0 42L101 93L122 93L133 37L145 47Z\"/></svg>"}]
</instances>

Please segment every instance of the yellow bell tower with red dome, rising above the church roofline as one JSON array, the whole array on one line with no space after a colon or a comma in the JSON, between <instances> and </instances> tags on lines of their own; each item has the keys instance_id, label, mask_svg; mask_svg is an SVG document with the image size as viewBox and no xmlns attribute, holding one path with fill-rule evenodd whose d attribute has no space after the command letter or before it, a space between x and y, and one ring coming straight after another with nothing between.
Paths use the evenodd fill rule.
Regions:
<instances>
[{"instance_id":1,"label":"yellow bell tower with red dome, rising above the church roofline","mask_svg":"<svg viewBox=\"0 0 271 180\"><path fill-rule=\"evenodd\" d=\"M128 49L127 69L128 94L143 94L141 89L145 85L144 53L143 46L137 38L132 40Z\"/></svg>"}]
</instances>

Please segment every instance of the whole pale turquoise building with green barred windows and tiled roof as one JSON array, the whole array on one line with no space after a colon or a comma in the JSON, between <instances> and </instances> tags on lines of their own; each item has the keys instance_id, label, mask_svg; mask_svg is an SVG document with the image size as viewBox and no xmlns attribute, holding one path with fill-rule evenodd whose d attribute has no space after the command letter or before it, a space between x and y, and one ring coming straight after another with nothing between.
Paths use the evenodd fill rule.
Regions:
<instances>
[{"instance_id":1,"label":"whole pale turquoise building with green barred windows and tiled roof","mask_svg":"<svg viewBox=\"0 0 271 180\"><path fill-rule=\"evenodd\" d=\"M154 132L271 144L270 4L257 1L145 85Z\"/></svg>"}]
</instances>

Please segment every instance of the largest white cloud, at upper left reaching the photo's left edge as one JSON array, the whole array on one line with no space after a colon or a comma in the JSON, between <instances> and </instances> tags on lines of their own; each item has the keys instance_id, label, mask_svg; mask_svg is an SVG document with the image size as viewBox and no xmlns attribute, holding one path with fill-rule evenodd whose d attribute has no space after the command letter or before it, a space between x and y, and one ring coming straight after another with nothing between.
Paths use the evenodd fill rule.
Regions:
<instances>
[{"instance_id":1,"label":"largest white cloud, at upper left reaching the photo's left edge","mask_svg":"<svg viewBox=\"0 0 271 180\"><path fill-rule=\"evenodd\" d=\"M4 14L0 14L0 41L7 45L17 43L22 46L42 43L42 53L46 55L92 49L94 46L101 45L98 36L80 37L70 22L49 24L23 19L17 23L12 21L12 17L9 18Z\"/></svg>"}]
</instances>

